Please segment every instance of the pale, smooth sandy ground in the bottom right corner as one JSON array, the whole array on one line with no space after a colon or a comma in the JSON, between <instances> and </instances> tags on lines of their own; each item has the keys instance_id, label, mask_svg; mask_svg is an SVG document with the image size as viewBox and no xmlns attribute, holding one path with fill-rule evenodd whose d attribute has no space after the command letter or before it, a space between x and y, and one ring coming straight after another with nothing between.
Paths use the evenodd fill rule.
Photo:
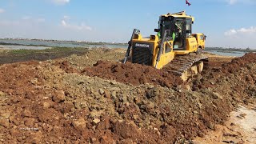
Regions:
<instances>
[{"instance_id":1,"label":"pale, smooth sandy ground in the bottom right corner","mask_svg":"<svg viewBox=\"0 0 256 144\"><path fill-rule=\"evenodd\" d=\"M256 110L239 106L224 125L216 126L204 138L195 138L195 144L204 143L256 143Z\"/></svg>"}]
</instances>

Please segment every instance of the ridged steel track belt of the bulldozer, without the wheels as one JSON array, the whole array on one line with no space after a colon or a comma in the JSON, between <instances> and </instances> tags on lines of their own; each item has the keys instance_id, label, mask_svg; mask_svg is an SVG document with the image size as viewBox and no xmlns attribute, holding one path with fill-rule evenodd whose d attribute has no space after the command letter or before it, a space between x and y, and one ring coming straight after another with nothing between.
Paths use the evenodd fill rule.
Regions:
<instances>
[{"instance_id":1,"label":"ridged steel track belt of the bulldozer, without the wheels","mask_svg":"<svg viewBox=\"0 0 256 144\"><path fill-rule=\"evenodd\" d=\"M162 70L176 75L182 75L186 70L189 70L191 66L196 65L197 62L203 62L205 69L208 66L208 57L202 54L176 56L174 60L164 66Z\"/></svg>"}]
</instances>

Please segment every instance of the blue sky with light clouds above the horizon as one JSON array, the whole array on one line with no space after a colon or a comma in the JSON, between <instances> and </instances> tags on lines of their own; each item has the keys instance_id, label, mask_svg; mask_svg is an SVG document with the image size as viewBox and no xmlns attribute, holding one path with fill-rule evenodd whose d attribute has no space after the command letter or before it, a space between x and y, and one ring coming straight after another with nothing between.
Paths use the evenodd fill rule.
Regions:
<instances>
[{"instance_id":1,"label":"blue sky with light clouds above the horizon","mask_svg":"<svg viewBox=\"0 0 256 144\"><path fill-rule=\"evenodd\" d=\"M206 46L256 49L256 0L1 0L0 38L128 42L155 34L161 14L186 10Z\"/></svg>"}]
</instances>

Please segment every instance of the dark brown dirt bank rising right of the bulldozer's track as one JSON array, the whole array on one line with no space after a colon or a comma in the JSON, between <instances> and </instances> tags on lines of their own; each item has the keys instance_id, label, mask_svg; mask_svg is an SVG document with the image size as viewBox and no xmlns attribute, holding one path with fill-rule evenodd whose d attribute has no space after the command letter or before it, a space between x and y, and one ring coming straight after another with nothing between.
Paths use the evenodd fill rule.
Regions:
<instances>
[{"instance_id":1,"label":"dark brown dirt bank rising right of the bulldozer's track","mask_svg":"<svg viewBox=\"0 0 256 144\"><path fill-rule=\"evenodd\" d=\"M255 63L256 54L250 53L230 62L223 62L222 65L214 64L204 72L202 78L194 79L191 87L193 90L216 90L236 102L250 103L251 98L256 98Z\"/></svg>"}]
</instances>

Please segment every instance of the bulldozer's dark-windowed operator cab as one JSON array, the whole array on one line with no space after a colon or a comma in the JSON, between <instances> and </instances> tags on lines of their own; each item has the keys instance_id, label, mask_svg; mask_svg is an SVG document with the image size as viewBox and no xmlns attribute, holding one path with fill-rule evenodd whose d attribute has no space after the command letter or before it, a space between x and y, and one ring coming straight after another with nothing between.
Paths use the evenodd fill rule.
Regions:
<instances>
[{"instance_id":1,"label":"bulldozer's dark-windowed operator cab","mask_svg":"<svg viewBox=\"0 0 256 144\"><path fill-rule=\"evenodd\" d=\"M162 38L165 30L167 41L174 41L174 50L186 50L186 38L192 34L192 18L190 17L174 17L171 15L163 15L158 22L158 37Z\"/></svg>"}]
</instances>

